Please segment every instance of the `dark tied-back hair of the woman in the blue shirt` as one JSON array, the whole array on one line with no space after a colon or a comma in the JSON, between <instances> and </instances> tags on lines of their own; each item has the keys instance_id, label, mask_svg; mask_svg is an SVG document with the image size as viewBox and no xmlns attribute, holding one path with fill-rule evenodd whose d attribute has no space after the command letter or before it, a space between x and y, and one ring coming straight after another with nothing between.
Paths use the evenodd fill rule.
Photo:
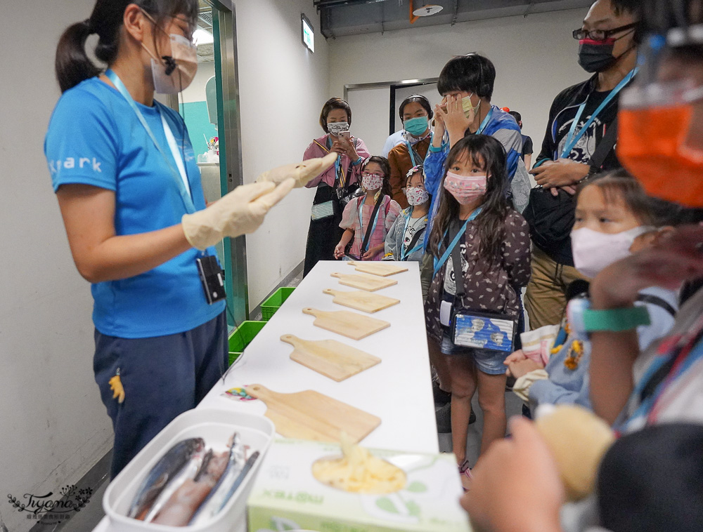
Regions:
<instances>
[{"instance_id":1,"label":"dark tied-back hair of the woman in the blue shirt","mask_svg":"<svg viewBox=\"0 0 703 532\"><path fill-rule=\"evenodd\" d=\"M115 61L124 10L129 4L142 8L157 24L166 18L182 15L195 28L198 20L198 0L98 0L90 17L67 27L58 41L56 79L62 93L103 72L85 50L86 39L91 34L96 33L99 38L96 58L108 65Z\"/></svg>"}]
</instances>

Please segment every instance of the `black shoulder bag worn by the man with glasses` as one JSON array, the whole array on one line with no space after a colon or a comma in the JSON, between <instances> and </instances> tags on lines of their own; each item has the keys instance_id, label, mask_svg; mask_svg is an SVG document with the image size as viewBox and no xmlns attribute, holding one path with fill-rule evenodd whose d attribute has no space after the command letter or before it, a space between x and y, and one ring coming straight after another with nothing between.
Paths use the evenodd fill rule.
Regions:
<instances>
[{"instance_id":1,"label":"black shoulder bag worn by the man with glasses","mask_svg":"<svg viewBox=\"0 0 703 532\"><path fill-rule=\"evenodd\" d=\"M605 158L615 146L617 141L617 118L612 121L610 128L605 133L598 147L591 157L591 173L600 171ZM576 204L574 197L564 189L557 188L557 195L553 196L550 189L541 186L534 187L529 192L529 203L522 215L529 224L529 233L532 241L543 249L550 249L555 244L560 244L569 238L574 227L574 212Z\"/></svg>"}]
</instances>

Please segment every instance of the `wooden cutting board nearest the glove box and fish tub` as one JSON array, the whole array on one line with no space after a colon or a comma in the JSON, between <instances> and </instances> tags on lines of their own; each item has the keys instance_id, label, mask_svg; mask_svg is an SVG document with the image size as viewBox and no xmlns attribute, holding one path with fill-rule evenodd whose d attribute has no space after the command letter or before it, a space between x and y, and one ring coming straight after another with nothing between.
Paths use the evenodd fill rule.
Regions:
<instances>
[{"instance_id":1,"label":"wooden cutting board nearest the glove box and fish tub","mask_svg":"<svg viewBox=\"0 0 703 532\"><path fill-rule=\"evenodd\" d=\"M266 403L266 417L276 432L287 438L339 442L342 432L359 443L378 425L380 418L313 390L295 394L272 392L260 384L245 388Z\"/></svg>"}]
</instances>

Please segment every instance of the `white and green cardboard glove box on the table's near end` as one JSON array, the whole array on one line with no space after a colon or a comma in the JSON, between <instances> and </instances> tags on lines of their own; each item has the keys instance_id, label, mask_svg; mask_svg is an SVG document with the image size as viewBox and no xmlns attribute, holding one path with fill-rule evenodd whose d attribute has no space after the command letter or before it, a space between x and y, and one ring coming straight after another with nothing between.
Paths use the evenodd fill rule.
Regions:
<instances>
[{"instance_id":1,"label":"white and green cardboard glove box on the table's near end","mask_svg":"<svg viewBox=\"0 0 703 532\"><path fill-rule=\"evenodd\" d=\"M276 439L247 502L249 531L470 532L454 455L369 451L401 471L392 493L350 493L318 480L314 464L341 457L337 444Z\"/></svg>"}]
</instances>

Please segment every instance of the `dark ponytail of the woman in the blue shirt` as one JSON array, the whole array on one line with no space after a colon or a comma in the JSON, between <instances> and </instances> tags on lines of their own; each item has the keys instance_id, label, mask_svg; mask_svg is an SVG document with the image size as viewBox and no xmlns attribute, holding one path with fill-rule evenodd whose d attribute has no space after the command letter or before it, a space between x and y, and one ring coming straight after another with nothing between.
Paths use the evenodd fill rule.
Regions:
<instances>
[{"instance_id":1,"label":"dark ponytail of the woman in the blue shirt","mask_svg":"<svg viewBox=\"0 0 703 532\"><path fill-rule=\"evenodd\" d=\"M90 20L84 20L69 26L58 41L56 79L62 93L101 73L85 51L86 39L91 33Z\"/></svg>"}]
</instances>

